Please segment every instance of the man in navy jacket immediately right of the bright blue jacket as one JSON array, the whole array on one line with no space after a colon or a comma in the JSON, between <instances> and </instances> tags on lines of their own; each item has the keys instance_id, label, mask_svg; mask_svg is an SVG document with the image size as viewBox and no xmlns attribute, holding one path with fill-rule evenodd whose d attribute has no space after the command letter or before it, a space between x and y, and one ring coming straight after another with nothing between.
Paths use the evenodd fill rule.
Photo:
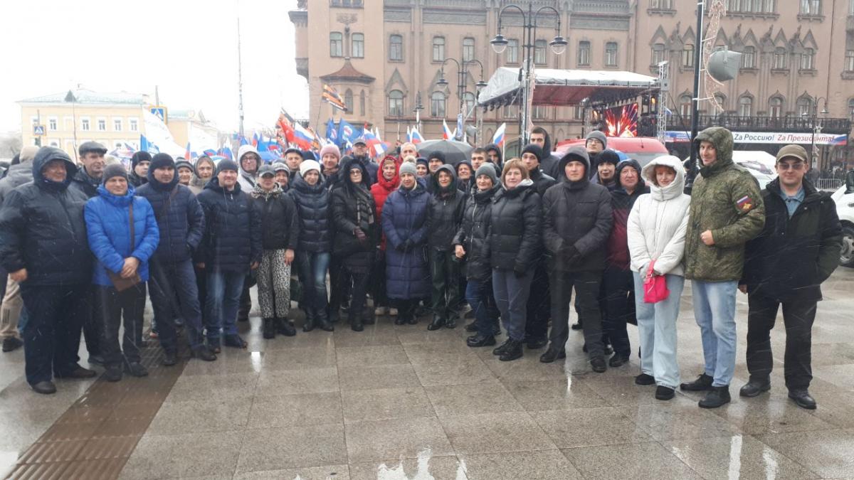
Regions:
<instances>
[{"instance_id":1,"label":"man in navy jacket immediately right of the bright blue jacket","mask_svg":"<svg viewBox=\"0 0 854 480\"><path fill-rule=\"evenodd\" d=\"M160 245L150 261L149 292L158 320L163 365L173 366L178 362L178 335L173 322L178 317L184 319L193 356L216 360L216 355L203 342L202 308L192 261L205 229L202 206L189 188L178 184L175 161L168 154L157 154L151 159L148 180L139 187L137 195L151 203L160 228Z\"/></svg>"}]
</instances>

